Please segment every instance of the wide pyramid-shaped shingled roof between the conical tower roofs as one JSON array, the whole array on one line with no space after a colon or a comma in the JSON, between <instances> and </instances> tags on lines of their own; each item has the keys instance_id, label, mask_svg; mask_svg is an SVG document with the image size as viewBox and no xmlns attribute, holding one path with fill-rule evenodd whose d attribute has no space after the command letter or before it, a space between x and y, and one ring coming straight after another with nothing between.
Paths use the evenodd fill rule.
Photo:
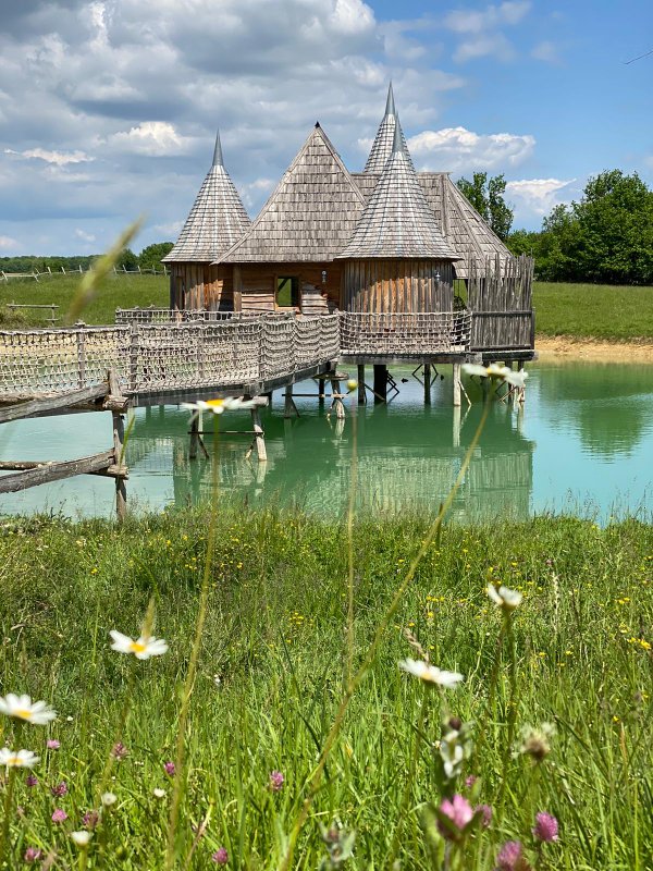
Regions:
<instances>
[{"instance_id":1,"label":"wide pyramid-shaped shingled roof between the conical tower roofs","mask_svg":"<svg viewBox=\"0 0 653 871\"><path fill-rule=\"evenodd\" d=\"M245 236L218 262L323 262L347 244L362 195L319 124Z\"/></svg>"}]
</instances>

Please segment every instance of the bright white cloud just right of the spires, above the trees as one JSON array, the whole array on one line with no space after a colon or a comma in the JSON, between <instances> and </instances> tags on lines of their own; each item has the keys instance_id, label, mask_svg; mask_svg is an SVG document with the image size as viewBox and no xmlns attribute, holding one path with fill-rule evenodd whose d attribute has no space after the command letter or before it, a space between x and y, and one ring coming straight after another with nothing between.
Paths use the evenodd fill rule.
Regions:
<instances>
[{"instance_id":1,"label":"bright white cloud just right of the spires, above the trees","mask_svg":"<svg viewBox=\"0 0 653 871\"><path fill-rule=\"evenodd\" d=\"M418 169L442 172L505 171L530 157L534 146L531 135L479 134L465 127L424 131L408 139Z\"/></svg>"}]
</instances>

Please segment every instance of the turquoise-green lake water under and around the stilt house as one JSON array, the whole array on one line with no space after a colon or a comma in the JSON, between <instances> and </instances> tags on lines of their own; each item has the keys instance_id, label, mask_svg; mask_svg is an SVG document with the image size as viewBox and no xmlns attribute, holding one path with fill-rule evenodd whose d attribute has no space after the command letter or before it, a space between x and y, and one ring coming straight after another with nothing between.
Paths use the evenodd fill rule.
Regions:
<instances>
[{"instance_id":1,"label":"turquoise-green lake water under and around the stilt house","mask_svg":"<svg viewBox=\"0 0 653 871\"><path fill-rule=\"evenodd\" d=\"M535 364L522 410L494 403L465 482L453 506L459 519L579 512L611 515L653 511L653 366ZM433 512L460 468L482 413L480 390L466 382L460 415L451 405L451 367L424 407L422 384L410 368L392 373L401 393L387 406L347 407L342 422L330 402L297 398L299 418L284 420L283 395L262 413L268 463L246 458L249 438L220 439L221 492L256 504L297 505L341 514L352 479L356 429L359 511ZM369 373L371 378L371 371ZM407 379L402 383L401 379ZM297 388L315 390L313 382ZM211 461L188 459L188 413L176 406L136 409L127 445L132 506L210 499ZM211 420L207 420L208 428ZM249 429L247 413L223 415L224 429ZM212 437L207 438L212 453ZM109 414L70 415L3 425L0 457L64 459L108 450ZM83 476L0 496L3 514L52 511L66 516L111 516L113 482Z\"/></svg>"}]
</instances>

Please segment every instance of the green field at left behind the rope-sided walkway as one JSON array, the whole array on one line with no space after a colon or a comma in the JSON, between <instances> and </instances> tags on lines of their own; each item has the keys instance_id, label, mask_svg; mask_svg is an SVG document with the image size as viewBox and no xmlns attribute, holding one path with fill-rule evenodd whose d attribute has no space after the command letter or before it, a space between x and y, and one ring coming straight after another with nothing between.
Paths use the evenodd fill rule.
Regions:
<instances>
[{"instance_id":1,"label":"green field at left behind the rope-sided walkway","mask_svg":"<svg viewBox=\"0 0 653 871\"><path fill-rule=\"evenodd\" d=\"M49 326L46 318L50 311L12 311L4 307L7 303L54 303L60 307L59 317L65 317L78 286L79 275L73 273L41 277L38 283L27 280L10 281L9 284L0 282L0 329ZM152 304L167 308L169 286L170 279L164 275L110 275L96 299L84 309L83 318L86 323L113 323L116 308L144 308ZM59 321L57 326L61 324Z\"/></svg>"}]
</instances>

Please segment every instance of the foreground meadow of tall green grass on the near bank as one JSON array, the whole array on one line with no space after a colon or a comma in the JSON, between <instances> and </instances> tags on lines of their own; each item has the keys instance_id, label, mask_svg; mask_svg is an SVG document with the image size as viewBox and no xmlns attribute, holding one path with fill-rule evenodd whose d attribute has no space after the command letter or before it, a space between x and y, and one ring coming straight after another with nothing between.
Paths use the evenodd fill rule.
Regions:
<instances>
[{"instance_id":1,"label":"foreground meadow of tall green grass on the near bank","mask_svg":"<svg viewBox=\"0 0 653 871\"><path fill-rule=\"evenodd\" d=\"M29 692L59 712L21 736L0 716L2 741L41 756L38 785L23 775L15 784L8 867L34 847L72 868L70 832L107 788L116 801L102 810L79 868L164 867L174 778L163 766L175 759L207 528L206 515L190 512L120 530L2 525L2 694ZM352 648L346 529L289 514L220 514L180 780L185 859L175 868L215 867L225 858L219 848L230 868L282 867L349 657L356 668L424 533L411 518L355 525ZM523 593L513 618L490 601L488 578ZM344 866L353 869L398 859L406 869L490 871L508 839L523 843L533 868L652 867L652 585L653 530L636 522L445 528L353 696L291 867L315 869L326 856L320 826L332 830L333 854L345 832L356 833ZM110 650L111 629L136 637L152 594L155 634L170 651L137 662ZM421 658L406 628L464 683L438 691L402 672L398 660ZM449 716L472 724L473 747L460 738L455 775L443 781L438 743ZM551 753L545 743L520 752L521 731L543 722L556 728ZM46 750L46 738L60 749ZM119 740L126 755L108 766ZM466 785L470 775L479 780ZM453 793L493 815L445 844L428 802ZM56 809L67 819L53 822ZM558 819L557 841L534 839L538 811ZM335 856L324 867L340 867Z\"/></svg>"}]
</instances>

